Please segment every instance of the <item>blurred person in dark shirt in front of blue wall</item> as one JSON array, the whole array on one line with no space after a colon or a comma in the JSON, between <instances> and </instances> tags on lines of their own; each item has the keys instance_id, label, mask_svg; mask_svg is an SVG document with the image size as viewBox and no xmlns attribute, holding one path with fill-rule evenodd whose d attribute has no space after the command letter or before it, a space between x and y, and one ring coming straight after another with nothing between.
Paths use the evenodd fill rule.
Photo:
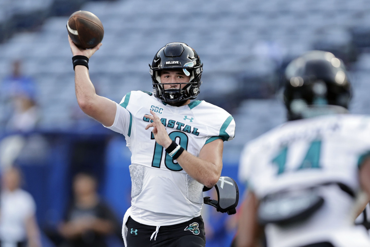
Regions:
<instances>
[{"instance_id":1,"label":"blurred person in dark shirt in front of blue wall","mask_svg":"<svg viewBox=\"0 0 370 247\"><path fill-rule=\"evenodd\" d=\"M73 181L74 200L68 207L58 231L63 247L107 247L106 237L120 232L111 208L97 193L97 180L87 173L78 173Z\"/></svg>"}]
</instances>

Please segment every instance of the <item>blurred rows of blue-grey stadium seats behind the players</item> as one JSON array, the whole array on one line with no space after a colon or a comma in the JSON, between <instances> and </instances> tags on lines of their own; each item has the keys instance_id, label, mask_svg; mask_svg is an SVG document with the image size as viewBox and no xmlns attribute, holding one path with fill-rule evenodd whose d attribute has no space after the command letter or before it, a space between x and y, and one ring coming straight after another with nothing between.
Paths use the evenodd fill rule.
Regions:
<instances>
[{"instance_id":1,"label":"blurred rows of blue-grey stadium seats behind the players","mask_svg":"<svg viewBox=\"0 0 370 247\"><path fill-rule=\"evenodd\" d=\"M102 95L120 101L130 90L151 91L148 63L154 53L165 43L182 41L192 46L204 63L199 99L225 106L232 97L237 104L225 108L236 114L235 119L240 118L239 126L250 124L260 128L255 133L266 131L283 120L279 115L282 110L276 115L264 115L274 113L276 109L270 107L279 105L279 100L275 104L265 104L265 100L248 102L275 97L279 89L277 71L284 60L306 50L325 49L351 65L359 52L366 52L370 47L367 39L370 37L367 24L370 23L370 2L366 0L236 0L232 4L221 0L212 4L195 0L160 3L79 0L74 1L70 9L61 9L67 2L70 1L0 3L0 40L3 40L0 79L9 72L12 59L24 60L24 73L37 81L43 112L41 126L47 129L76 124L71 118L76 100L65 23L70 12L77 8L93 12L104 25L104 45L90 62L91 79ZM11 26L9 20L20 14L23 17L17 19L23 24L20 21ZM31 28L41 22L42 26L36 31ZM14 25L23 25L22 30L31 28L31 31L14 33L13 29L20 30ZM364 94L362 87L367 87L361 80L366 80L369 64L369 55L365 53L360 54L357 66L350 66L359 80L356 86L361 85L361 90L355 88L354 92L360 95ZM266 88L269 93L263 93ZM269 100L273 99L266 102ZM353 103L356 112L368 111L365 103L356 102ZM248 115L257 119L255 122L239 116L245 107L256 107L254 115ZM278 120L268 120L272 116ZM258 124L259 121L264 122ZM242 126L240 128L245 128ZM246 141L253 136L242 139ZM241 145L243 141L235 143Z\"/></svg>"}]
</instances>

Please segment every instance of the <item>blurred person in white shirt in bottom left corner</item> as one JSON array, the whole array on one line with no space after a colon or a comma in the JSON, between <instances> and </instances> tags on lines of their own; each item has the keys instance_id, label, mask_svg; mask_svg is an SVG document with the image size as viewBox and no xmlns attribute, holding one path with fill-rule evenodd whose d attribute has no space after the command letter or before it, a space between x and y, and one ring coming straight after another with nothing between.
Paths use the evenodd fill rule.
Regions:
<instances>
[{"instance_id":1,"label":"blurred person in white shirt in bottom left corner","mask_svg":"<svg viewBox=\"0 0 370 247\"><path fill-rule=\"evenodd\" d=\"M2 176L0 196L0 246L40 247L36 205L32 196L20 188L21 172L7 168Z\"/></svg>"}]
</instances>

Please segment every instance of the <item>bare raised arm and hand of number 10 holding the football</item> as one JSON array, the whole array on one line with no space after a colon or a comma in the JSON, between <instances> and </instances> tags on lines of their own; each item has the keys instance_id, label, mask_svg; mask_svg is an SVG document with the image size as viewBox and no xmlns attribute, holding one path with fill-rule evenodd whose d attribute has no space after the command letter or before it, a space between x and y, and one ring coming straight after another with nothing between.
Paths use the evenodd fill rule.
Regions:
<instances>
[{"instance_id":1,"label":"bare raised arm and hand of number 10 holding the football","mask_svg":"<svg viewBox=\"0 0 370 247\"><path fill-rule=\"evenodd\" d=\"M92 49L79 49L68 36L73 56L85 56L88 59L99 50L101 43ZM83 60L83 59L82 59ZM81 62L83 63L83 61ZM87 62L86 62L87 63ZM75 66L75 91L78 106L88 116L102 123L104 126L111 126L114 123L116 104L114 101L96 94L95 87L91 83L88 68L84 65Z\"/></svg>"}]
</instances>

